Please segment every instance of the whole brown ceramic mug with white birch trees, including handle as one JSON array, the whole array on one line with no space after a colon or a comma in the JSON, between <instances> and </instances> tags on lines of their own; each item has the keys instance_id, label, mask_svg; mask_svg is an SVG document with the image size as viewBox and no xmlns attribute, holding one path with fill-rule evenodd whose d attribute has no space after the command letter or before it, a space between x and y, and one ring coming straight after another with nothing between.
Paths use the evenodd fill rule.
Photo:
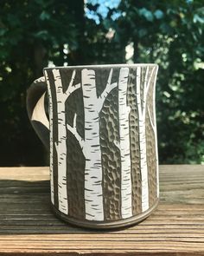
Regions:
<instances>
[{"instance_id":1,"label":"whole brown ceramic mug with white birch trees, including handle","mask_svg":"<svg viewBox=\"0 0 204 256\"><path fill-rule=\"evenodd\" d=\"M61 219L110 228L137 223L155 209L157 69L46 68L29 88L29 119L50 151L51 202Z\"/></svg>"}]
</instances>

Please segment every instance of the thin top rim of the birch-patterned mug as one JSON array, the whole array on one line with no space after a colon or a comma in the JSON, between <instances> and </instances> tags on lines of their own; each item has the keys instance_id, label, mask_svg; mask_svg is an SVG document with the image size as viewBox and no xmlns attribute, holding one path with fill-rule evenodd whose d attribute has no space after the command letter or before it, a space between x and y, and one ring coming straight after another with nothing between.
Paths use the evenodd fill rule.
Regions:
<instances>
[{"instance_id":1,"label":"thin top rim of the birch-patterned mug","mask_svg":"<svg viewBox=\"0 0 204 256\"><path fill-rule=\"evenodd\" d=\"M74 65L74 66L56 66L56 67L46 67L43 70L48 69L88 69L88 68L123 68L123 67L145 67L145 66L153 66L158 68L158 64L156 63L119 63L119 64L93 64L93 65Z\"/></svg>"}]
</instances>

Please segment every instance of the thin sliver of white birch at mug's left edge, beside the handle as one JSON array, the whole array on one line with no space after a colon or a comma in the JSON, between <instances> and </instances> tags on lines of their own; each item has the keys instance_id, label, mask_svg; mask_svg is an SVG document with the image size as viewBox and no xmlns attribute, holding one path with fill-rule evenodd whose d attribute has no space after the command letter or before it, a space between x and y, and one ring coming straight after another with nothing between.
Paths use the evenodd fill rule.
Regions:
<instances>
[{"instance_id":1,"label":"thin sliver of white birch at mug's left edge, beside the handle","mask_svg":"<svg viewBox=\"0 0 204 256\"><path fill-rule=\"evenodd\" d=\"M52 93L50 88L50 83L48 80L48 73L45 70L46 81L48 85L48 101L49 101L49 142L50 142L50 157L49 157L49 166L50 166L50 190L51 190L51 201L54 204L54 173L53 173L53 150L54 150L54 141L53 141L53 100Z\"/></svg>"}]
</instances>

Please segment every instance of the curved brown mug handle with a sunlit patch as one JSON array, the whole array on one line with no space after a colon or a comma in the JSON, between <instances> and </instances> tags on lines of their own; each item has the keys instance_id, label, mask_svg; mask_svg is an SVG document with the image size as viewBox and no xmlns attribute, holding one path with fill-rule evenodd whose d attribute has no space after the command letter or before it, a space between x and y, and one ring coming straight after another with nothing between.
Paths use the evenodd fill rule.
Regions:
<instances>
[{"instance_id":1,"label":"curved brown mug handle with a sunlit patch","mask_svg":"<svg viewBox=\"0 0 204 256\"><path fill-rule=\"evenodd\" d=\"M35 133L39 136L44 146L49 149L49 121L45 111L45 95L47 83L45 77L36 79L27 91L27 111Z\"/></svg>"}]
</instances>

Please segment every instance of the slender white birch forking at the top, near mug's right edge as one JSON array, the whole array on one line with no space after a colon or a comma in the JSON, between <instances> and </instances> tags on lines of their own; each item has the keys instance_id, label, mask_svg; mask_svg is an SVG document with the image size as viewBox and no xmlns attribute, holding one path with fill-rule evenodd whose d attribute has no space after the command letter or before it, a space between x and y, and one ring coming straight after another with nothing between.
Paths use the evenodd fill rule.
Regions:
<instances>
[{"instance_id":1,"label":"slender white birch forking at the top, near mug's right edge","mask_svg":"<svg viewBox=\"0 0 204 256\"><path fill-rule=\"evenodd\" d=\"M138 129L139 129L139 154L141 168L141 183L142 183L142 212L149 209L149 184L148 184L148 167L146 154L146 131L145 131L145 115L147 106L147 94L150 88L151 77L155 68L149 72L149 67L146 68L143 94L141 93L141 67L137 67L137 111L138 111ZM149 74L150 73L150 74Z\"/></svg>"}]
</instances>

